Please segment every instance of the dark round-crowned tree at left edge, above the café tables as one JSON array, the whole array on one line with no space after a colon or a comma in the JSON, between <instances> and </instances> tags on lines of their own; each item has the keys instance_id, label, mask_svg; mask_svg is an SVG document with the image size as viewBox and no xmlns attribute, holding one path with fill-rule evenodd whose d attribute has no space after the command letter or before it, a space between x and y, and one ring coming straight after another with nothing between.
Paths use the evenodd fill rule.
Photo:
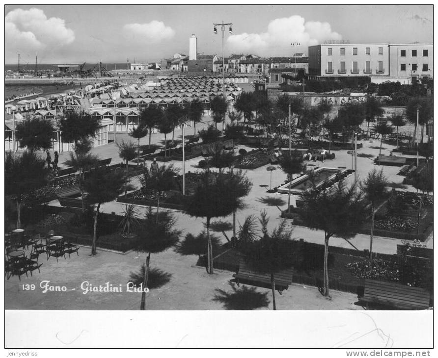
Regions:
<instances>
[{"instance_id":1,"label":"dark round-crowned tree at left edge, above the caf\u00e9 tables","mask_svg":"<svg viewBox=\"0 0 438 358\"><path fill-rule=\"evenodd\" d=\"M4 191L15 197L17 203L17 229L21 228L21 206L26 194L47 183L46 162L36 153L24 151L15 158L6 154L4 161Z\"/></svg>"}]
</instances>

